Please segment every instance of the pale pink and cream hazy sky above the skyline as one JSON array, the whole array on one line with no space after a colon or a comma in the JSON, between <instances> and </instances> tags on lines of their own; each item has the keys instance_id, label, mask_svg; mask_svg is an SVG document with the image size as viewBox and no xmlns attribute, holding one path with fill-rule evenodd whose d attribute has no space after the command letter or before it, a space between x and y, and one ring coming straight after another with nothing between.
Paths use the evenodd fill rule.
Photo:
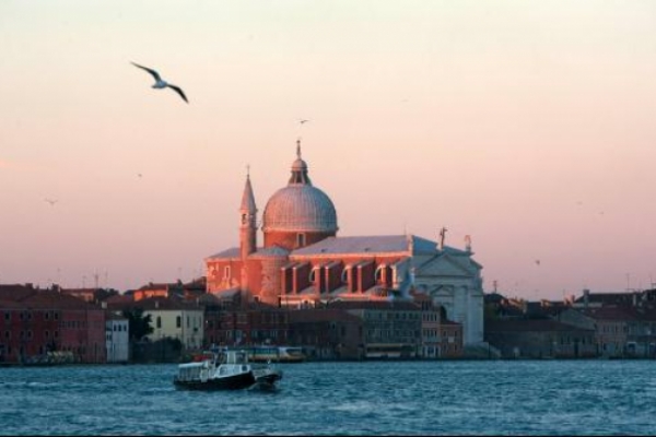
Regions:
<instances>
[{"instance_id":1,"label":"pale pink and cream hazy sky above the skyline","mask_svg":"<svg viewBox=\"0 0 656 437\"><path fill-rule=\"evenodd\" d=\"M0 283L198 276L301 137L338 235L446 226L511 296L648 287L655 115L652 0L2 0Z\"/></svg>"}]
</instances>

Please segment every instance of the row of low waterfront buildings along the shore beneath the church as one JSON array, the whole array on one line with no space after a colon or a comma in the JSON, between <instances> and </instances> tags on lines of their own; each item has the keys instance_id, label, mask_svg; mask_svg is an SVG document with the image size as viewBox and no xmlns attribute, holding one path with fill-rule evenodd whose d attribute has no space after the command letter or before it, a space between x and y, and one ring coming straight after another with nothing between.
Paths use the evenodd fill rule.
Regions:
<instances>
[{"instance_id":1,"label":"row of low waterfront buildings along the shore beneath the church","mask_svg":"<svg viewBox=\"0 0 656 437\"><path fill-rule=\"evenodd\" d=\"M202 279L105 288L0 285L3 365L180 362L212 346L289 345L307 361L655 357L656 291L525 302L485 294L484 341L411 291L377 302L270 306Z\"/></svg>"}]
</instances>

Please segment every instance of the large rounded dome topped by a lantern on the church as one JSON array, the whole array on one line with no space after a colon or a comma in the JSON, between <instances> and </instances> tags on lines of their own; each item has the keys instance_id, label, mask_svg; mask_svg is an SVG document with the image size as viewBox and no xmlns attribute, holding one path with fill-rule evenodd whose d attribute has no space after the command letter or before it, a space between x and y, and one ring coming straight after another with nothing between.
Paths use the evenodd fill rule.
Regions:
<instances>
[{"instance_id":1,"label":"large rounded dome topped by a lantern on the church","mask_svg":"<svg viewBox=\"0 0 656 437\"><path fill-rule=\"evenodd\" d=\"M313 187L300 144L296 155L288 186L276 191L265 206L262 231L337 232L335 205L324 191Z\"/></svg>"}]
</instances>

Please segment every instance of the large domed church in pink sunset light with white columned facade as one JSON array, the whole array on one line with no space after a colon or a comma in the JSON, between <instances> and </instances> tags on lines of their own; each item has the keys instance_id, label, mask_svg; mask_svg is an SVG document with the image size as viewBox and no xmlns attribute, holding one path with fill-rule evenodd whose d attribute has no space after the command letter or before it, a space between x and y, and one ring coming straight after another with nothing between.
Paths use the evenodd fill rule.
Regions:
<instances>
[{"instance_id":1,"label":"large domed church in pink sunset light with white columned facade","mask_svg":"<svg viewBox=\"0 0 656 437\"><path fill-rule=\"evenodd\" d=\"M311 181L300 141L286 187L265 206L261 246L257 212L248 174L239 246L204 259L208 293L289 308L421 293L462 324L466 345L483 341L482 267L471 258L471 243L445 246L444 232L440 243L415 235L338 236L335 204Z\"/></svg>"}]
</instances>

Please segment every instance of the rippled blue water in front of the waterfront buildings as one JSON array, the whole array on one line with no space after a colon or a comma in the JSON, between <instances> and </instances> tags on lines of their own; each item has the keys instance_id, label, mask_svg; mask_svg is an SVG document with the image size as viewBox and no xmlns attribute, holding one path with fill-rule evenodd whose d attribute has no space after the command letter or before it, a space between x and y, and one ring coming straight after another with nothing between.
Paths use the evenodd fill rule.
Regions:
<instances>
[{"instance_id":1,"label":"rippled blue water in front of the waterfront buildings","mask_svg":"<svg viewBox=\"0 0 656 437\"><path fill-rule=\"evenodd\" d=\"M175 365L0 368L0 434L656 434L656 362L280 368L274 392L176 390Z\"/></svg>"}]
</instances>

